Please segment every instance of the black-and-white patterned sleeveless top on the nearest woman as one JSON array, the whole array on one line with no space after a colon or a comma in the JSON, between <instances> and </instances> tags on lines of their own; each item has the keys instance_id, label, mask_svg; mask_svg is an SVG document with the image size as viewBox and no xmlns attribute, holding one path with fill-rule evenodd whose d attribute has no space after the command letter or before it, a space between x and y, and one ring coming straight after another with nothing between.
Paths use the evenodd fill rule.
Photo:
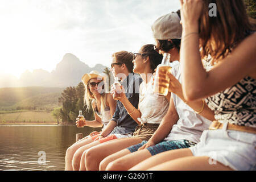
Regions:
<instances>
[{"instance_id":1,"label":"black-and-white patterned sleeveless top on the nearest woman","mask_svg":"<svg viewBox=\"0 0 256 182\"><path fill-rule=\"evenodd\" d=\"M205 102L218 122L256 127L256 80L249 76Z\"/></svg>"}]
</instances>

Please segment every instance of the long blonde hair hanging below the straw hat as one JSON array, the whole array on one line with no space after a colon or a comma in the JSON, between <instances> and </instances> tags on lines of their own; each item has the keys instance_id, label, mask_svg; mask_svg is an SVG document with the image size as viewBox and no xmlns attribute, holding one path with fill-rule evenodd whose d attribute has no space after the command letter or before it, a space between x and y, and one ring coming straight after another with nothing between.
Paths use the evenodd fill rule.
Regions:
<instances>
[{"instance_id":1,"label":"long blonde hair hanging below the straw hat","mask_svg":"<svg viewBox=\"0 0 256 182\"><path fill-rule=\"evenodd\" d=\"M86 110L94 109L92 108L92 101L95 100L93 93L90 92L90 89L89 89L89 81L87 85L84 84L85 86L84 104L86 105ZM105 107L106 107L106 88L105 88L105 81L104 81L104 92L101 94L101 111L105 110Z\"/></svg>"}]
</instances>

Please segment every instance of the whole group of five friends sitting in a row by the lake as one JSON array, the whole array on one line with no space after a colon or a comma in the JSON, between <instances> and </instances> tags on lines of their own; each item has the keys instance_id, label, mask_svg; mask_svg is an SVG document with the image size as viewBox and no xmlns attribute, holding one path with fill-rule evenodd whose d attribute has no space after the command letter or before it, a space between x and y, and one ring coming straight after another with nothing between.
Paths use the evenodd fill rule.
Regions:
<instances>
[{"instance_id":1,"label":"whole group of five friends sitting in a row by the lake","mask_svg":"<svg viewBox=\"0 0 256 182\"><path fill-rule=\"evenodd\" d=\"M82 77L102 127L68 148L65 170L256 170L256 34L242 0L180 0L152 24L155 45L112 55L122 92L97 71ZM164 53L179 61L154 92ZM90 105L91 103L91 105ZM78 125L78 123L77 123Z\"/></svg>"}]
</instances>

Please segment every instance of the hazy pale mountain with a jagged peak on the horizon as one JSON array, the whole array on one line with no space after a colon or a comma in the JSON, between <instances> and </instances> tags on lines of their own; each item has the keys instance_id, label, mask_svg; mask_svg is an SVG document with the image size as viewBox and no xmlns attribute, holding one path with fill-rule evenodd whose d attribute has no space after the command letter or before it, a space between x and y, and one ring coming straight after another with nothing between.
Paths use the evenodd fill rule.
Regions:
<instances>
[{"instance_id":1,"label":"hazy pale mountain with a jagged peak on the horizon","mask_svg":"<svg viewBox=\"0 0 256 182\"><path fill-rule=\"evenodd\" d=\"M106 67L102 64L96 64L93 68L90 68L72 53L66 53L51 73L43 69L35 69L33 72L26 71L22 73L19 79L11 75L0 75L0 88L14 86L65 88L67 86L76 86L81 82L81 78L85 73L93 70L102 73L104 68Z\"/></svg>"}]
</instances>

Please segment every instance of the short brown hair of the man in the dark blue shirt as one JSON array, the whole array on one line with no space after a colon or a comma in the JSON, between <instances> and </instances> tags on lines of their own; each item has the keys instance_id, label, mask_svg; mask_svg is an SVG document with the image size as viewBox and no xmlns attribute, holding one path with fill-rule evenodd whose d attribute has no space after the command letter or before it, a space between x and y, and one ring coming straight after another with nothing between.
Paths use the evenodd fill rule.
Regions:
<instances>
[{"instance_id":1,"label":"short brown hair of the man in the dark blue shirt","mask_svg":"<svg viewBox=\"0 0 256 182\"><path fill-rule=\"evenodd\" d=\"M119 51L113 53L112 57L117 60L118 63L125 64L129 73L133 73L133 53L127 51Z\"/></svg>"}]
</instances>

